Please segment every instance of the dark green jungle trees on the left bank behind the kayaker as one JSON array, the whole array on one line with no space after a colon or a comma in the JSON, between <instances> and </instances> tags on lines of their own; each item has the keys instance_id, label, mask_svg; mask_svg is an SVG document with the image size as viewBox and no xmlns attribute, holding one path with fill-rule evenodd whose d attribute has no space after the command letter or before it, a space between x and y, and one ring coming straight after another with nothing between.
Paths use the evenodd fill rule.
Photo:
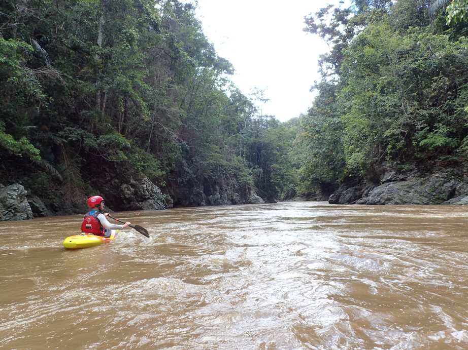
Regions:
<instances>
[{"instance_id":1,"label":"dark green jungle trees on the left bank behind the kayaker","mask_svg":"<svg viewBox=\"0 0 468 350\"><path fill-rule=\"evenodd\" d=\"M232 71L190 2L2 1L0 183L55 209L141 174L174 205L204 183L285 197L295 132Z\"/></svg>"}]
</instances>

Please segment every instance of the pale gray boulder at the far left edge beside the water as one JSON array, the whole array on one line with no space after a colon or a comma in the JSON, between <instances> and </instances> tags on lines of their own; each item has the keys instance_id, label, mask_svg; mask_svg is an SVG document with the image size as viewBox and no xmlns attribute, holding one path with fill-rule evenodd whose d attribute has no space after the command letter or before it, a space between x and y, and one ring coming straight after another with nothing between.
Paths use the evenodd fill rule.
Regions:
<instances>
[{"instance_id":1,"label":"pale gray boulder at the far left edge beside the water","mask_svg":"<svg viewBox=\"0 0 468 350\"><path fill-rule=\"evenodd\" d=\"M32 219L27 191L18 183L0 188L0 221Z\"/></svg>"}]
</instances>

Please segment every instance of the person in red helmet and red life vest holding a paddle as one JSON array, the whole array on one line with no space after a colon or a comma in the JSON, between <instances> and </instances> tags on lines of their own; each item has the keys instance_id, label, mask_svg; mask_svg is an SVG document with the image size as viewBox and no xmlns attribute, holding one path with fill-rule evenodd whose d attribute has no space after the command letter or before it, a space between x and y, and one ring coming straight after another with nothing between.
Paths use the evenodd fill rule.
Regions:
<instances>
[{"instance_id":1,"label":"person in red helmet and red life vest holding a paddle","mask_svg":"<svg viewBox=\"0 0 468 350\"><path fill-rule=\"evenodd\" d=\"M83 217L81 232L96 236L109 237L111 235L111 230L125 228L131 223L129 221L125 222L123 225L110 223L107 220L109 213L103 213L104 198L101 196L89 197L88 207L91 210Z\"/></svg>"}]
</instances>

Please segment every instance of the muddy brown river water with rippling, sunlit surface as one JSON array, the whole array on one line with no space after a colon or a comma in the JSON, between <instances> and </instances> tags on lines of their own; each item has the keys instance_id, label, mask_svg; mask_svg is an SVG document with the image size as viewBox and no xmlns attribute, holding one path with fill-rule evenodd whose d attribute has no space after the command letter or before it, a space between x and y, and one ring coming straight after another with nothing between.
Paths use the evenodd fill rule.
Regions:
<instances>
[{"instance_id":1,"label":"muddy brown river water with rippling, sunlit surface","mask_svg":"<svg viewBox=\"0 0 468 350\"><path fill-rule=\"evenodd\" d=\"M114 216L114 214L113 214ZM324 202L0 222L0 348L466 349L468 209Z\"/></svg>"}]
</instances>

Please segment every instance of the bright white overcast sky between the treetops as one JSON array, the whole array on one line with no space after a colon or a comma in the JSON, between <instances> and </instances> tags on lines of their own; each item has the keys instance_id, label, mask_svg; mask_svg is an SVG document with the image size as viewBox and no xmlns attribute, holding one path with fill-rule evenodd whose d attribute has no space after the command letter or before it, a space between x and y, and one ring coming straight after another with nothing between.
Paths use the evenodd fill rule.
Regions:
<instances>
[{"instance_id":1,"label":"bright white overcast sky between the treetops","mask_svg":"<svg viewBox=\"0 0 468 350\"><path fill-rule=\"evenodd\" d=\"M196 14L218 55L234 66L235 85L244 95L264 90L271 101L262 113L284 122L312 105L318 57L328 47L303 31L304 17L327 4L339 0L198 0Z\"/></svg>"}]
</instances>

